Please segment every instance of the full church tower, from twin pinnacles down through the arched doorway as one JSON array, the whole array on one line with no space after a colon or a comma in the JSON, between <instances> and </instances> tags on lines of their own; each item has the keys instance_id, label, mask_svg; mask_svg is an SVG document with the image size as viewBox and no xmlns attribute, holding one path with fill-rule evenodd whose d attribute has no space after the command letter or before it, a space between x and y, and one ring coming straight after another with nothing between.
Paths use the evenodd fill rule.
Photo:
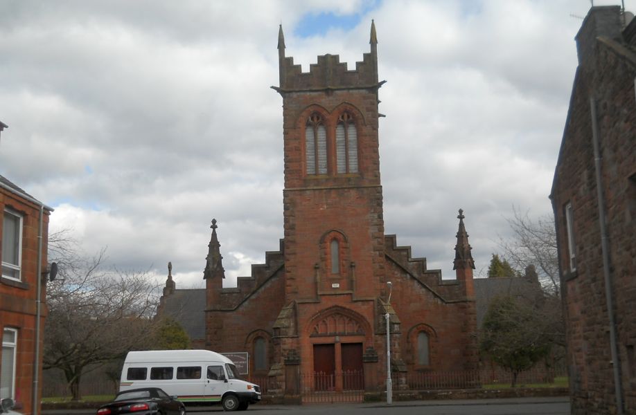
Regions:
<instances>
[{"instance_id":1,"label":"full church tower, from twin pinnacles down through the arched doorway","mask_svg":"<svg viewBox=\"0 0 636 415\"><path fill-rule=\"evenodd\" d=\"M378 294L387 287L378 151L384 82L373 22L369 42L355 70L328 54L303 73L285 56L279 28L280 85L273 88L283 97L287 306L277 324L286 331L274 326L274 336L283 356L298 356L303 373L362 373L363 362L378 362L363 358L379 340Z\"/></svg>"}]
</instances>

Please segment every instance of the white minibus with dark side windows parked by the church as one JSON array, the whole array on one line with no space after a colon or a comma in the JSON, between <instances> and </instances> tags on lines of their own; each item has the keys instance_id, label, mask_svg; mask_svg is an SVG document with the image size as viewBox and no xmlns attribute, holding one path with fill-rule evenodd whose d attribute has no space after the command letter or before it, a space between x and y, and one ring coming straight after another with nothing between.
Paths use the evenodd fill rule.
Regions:
<instances>
[{"instance_id":1,"label":"white minibus with dark side windows parked by the church","mask_svg":"<svg viewBox=\"0 0 636 415\"><path fill-rule=\"evenodd\" d=\"M233 362L209 350L130 351L119 391L160 387L184 403L221 403L226 411L260 401L260 387L238 378Z\"/></svg>"}]
</instances>

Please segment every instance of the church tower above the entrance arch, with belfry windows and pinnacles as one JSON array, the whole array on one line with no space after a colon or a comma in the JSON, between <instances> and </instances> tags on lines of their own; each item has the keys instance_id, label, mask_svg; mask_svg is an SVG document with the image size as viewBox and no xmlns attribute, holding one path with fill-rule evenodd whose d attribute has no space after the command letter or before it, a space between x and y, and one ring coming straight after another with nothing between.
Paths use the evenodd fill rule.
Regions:
<instances>
[{"instance_id":1,"label":"church tower above the entrance arch, with belfry windows and pinnacles","mask_svg":"<svg viewBox=\"0 0 636 415\"><path fill-rule=\"evenodd\" d=\"M371 297L382 279L384 222L378 153L378 57L355 71L322 55L309 73L285 57L279 29L283 97L285 295Z\"/></svg>"}]
</instances>

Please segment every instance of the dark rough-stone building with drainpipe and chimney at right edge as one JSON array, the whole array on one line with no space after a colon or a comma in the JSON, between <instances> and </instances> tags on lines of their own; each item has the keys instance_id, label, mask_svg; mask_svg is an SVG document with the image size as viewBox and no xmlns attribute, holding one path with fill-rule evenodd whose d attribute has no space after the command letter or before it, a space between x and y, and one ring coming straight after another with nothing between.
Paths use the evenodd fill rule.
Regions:
<instances>
[{"instance_id":1,"label":"dark rough-stone building with drainpipe and chimney at right edge","mask_svg":"<svg viewBox=\"0 0 636 415\"><path fill-rule=\"evenodd\" d=\"M576 35L578 68L550 196L572 414L636 414L636 21L630 17L619 6L594 7Z\"/></svg>"}]
</instances>

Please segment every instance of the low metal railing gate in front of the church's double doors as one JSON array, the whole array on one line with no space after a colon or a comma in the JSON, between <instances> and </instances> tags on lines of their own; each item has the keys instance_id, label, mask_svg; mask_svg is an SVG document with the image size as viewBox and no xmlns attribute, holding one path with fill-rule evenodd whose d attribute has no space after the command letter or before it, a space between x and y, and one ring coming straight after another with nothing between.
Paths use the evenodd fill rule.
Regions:
<instances>
[{"instance_id":1,"label":"low metal railing gate in front of the church's double doors","mask_svg":"<svg viewBox=\"0 0 636 415\"><path fill-rule=\"evenodd\" d=\"M359 403L364 401L361 370L301 374L303 403Z\"/></svg>"}]
</instances>

